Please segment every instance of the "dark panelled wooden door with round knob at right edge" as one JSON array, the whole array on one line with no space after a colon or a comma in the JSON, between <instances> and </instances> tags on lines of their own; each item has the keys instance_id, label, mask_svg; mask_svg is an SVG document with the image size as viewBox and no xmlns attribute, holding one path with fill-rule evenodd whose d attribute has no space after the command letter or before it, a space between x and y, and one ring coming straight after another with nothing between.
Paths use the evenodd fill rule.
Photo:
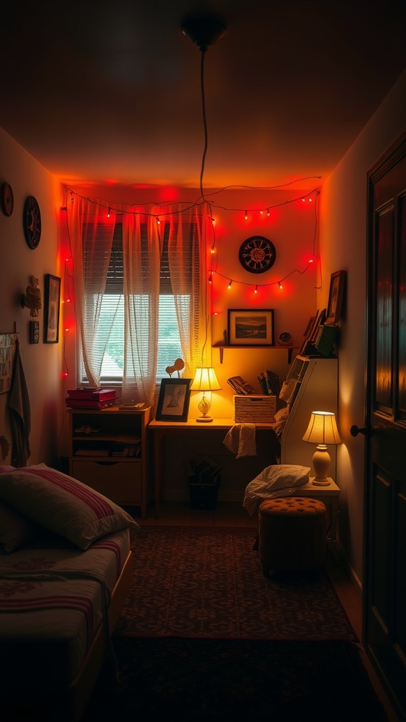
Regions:
<instances>
[{"instance_id":1,"label":"dark panelled wooden door with round knob at right edge","mask_svg":"<svg viewBox=\"0 0 406 722\"><path fill-rule=\"evenodd\" d=\"M406 136L368 174L363 644L406 719Z\"/></svg>"}]
</instances>

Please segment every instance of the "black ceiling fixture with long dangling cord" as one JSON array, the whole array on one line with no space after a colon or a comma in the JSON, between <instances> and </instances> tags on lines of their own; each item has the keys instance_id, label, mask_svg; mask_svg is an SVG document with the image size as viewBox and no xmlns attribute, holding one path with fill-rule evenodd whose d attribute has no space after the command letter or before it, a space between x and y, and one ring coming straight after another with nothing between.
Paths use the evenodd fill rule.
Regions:
<instances>
[{"instance_id":1,"label":"black ceiling fixture with long dangling cord","mask_svg":"<svg viewBox=\"0 0 406 722\"><path fill-rule=\"evenodd\" d=\"M207 51L209 45L213 45L216 40L223 38L225 33L225 23L219 16L210 15L196 15L190 16L183 20L181 30L186 38L191 40L191 43L199 48L202 53L202 60L200 64L200 82L202 88L202 110L203 110L203 126L204 126L204 151L202 156L202 168L200 170L200 194L204 199L203 192L203 175L204 175L204 160L207 153L207 121L206 121L206 108L204 102L204 54Z\"/></svg>"}]
</instances>

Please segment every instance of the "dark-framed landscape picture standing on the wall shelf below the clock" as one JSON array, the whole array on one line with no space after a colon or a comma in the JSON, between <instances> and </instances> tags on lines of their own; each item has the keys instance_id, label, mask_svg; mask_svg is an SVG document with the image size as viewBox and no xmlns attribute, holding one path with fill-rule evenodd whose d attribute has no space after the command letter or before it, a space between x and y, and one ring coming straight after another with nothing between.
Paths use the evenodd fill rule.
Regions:
<instances>
[{"instance_id":1,"label":"dark-framed landscape picture standing on the wall shelf below the clock","mask_svg":"<svg viewBox=\"0 0 406 722\"><path fill-rule=\"evenodd\" d=\"M229 308L229 346L274 346L273 308Z\"/></svg>"}]
</instances>

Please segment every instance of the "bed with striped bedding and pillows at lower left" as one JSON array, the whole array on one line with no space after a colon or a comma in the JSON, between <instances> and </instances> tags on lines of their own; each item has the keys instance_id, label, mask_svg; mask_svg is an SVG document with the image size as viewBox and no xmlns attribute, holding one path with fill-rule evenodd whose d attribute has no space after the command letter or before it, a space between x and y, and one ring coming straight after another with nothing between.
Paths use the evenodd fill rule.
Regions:
<instances>
[{"instance_id":1,"label":"bed with striped bedding and pillows at lower left","mask_svg":"<svg viewBox=\"0 0 406 722\"><path fill-rule=\"evenodd\" d=\"M129 592L134 519L45 464L0 467L0 695L8 722L79 722Z\"/></svg>"}]
</instances>

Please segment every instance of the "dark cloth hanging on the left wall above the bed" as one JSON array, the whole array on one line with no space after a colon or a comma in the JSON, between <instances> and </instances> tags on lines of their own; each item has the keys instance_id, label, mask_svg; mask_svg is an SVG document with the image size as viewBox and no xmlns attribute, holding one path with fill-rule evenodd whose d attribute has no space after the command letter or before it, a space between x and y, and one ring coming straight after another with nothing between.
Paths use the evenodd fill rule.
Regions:
<instances>
[{"instance_id":1,"label":"dark cloth hanging on the left wall above the bed","mask_svg":"<svg viewBox=\"0 0 406 722\"><path fill-rule=\"evenodd\" d=\"M12 430L12 466L25 466L30 457L31 411L27 384L20 355L20 342L14 352L12 387L9 396L10 427Z\"/></svg>"}]
</instances>

